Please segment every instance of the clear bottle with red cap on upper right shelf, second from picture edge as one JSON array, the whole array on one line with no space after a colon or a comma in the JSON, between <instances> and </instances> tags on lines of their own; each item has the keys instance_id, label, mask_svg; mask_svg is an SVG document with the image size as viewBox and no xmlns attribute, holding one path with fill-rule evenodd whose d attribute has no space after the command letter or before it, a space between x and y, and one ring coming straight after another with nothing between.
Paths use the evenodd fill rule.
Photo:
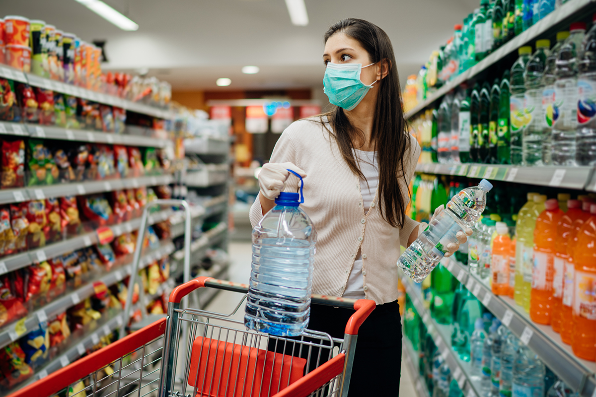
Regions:
<instances>
[{"instance_id":1,"label":"clear bottle with red cap on upper right shelf, second from picture edge","mask_svg":"<svg viewBox=\"0 0 596 397\"><path fill-rule=\"evenodd\" d=\"M552 108L552 163L576 165L576 129L578 126L578 61L586 24L575 22L569 29L555 62L555 101Z\"/></svg>"}]
</instances>

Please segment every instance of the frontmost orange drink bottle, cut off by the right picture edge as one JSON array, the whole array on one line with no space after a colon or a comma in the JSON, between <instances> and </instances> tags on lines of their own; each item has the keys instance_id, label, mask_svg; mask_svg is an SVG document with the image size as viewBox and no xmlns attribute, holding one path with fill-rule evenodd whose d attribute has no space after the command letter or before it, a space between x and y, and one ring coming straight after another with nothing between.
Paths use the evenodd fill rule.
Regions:
<instances>
[{"instance_id":1,"label":"frontmost orange drink bottle, cut off by the right picture edge","mask_svg":"<svg viewBox=\"0 0 596 397\"><path fill-rule=\"evenodd\" d=\"M578 232L575 248L575 283L573 294L573 332L571 348L584 360L596 360L596 204L591 217Z\"/></svg>"}]
</instances>

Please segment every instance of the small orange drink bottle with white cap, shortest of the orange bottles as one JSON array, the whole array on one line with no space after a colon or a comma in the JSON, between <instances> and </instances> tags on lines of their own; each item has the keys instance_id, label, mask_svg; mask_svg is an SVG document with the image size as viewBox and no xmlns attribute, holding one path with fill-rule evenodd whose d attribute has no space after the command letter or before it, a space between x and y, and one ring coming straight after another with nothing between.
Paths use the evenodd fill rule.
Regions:
<instances>
[{"instance_id":1,"label":"small orange drink bottle with white cap, shortest of the orange bottles","mask_svg":"<svg viewBox=\"0 0 596 397\"><path fill-rule=\"evenodd\" d=\"M492 293L509 295L509 257L511 239L505 222L496 223L496 236L492 242L491 273Z\"/></svg>"}]
</instances>

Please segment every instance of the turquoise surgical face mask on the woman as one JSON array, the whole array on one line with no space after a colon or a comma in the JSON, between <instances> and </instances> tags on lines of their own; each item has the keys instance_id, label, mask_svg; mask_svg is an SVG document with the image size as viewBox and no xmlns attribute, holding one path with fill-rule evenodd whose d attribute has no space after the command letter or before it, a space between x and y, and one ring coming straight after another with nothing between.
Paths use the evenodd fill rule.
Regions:
<instances>
[{"instance_id":1,"label":"turquoise surgical face mask on the woman","mask_svg":"<svg viewBox=\"0 0 596 397\"><path fill-rule=\"evenodd\" d=\"M370 65L363 67L362 64L339 65L329 62L323 77L324 92L329 97L329 102L345 110L352 110L358 106L376 83L375 81L367 86L360 80L362 69Z\"/></svg>"}]
</instances>

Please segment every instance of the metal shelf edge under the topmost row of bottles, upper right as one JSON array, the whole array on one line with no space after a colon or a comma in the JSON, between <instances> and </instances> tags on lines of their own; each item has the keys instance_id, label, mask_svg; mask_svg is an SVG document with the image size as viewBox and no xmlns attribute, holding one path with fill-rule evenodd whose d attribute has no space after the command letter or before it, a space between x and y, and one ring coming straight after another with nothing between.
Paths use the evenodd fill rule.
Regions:
<instances>
[{"instance_id":1,"label":"metal shelf edge under the topmost row of bottles, upper right","mask_svg":"<svg viewBox=\"0 0 596 397\"><path fill-rule=\"evenodd\" d=\"M546 17L533 24L533 26L529 27L529 29L527 29L525 32L509 40L507 43L497 48L495 52L492 52L492 54L490 54L488 57L464 71L464 73L455 77L454 80L443 85L440 89L430 95L426 101L418 104L412 108L412 110L406 112L405 118L411 118L413 115L417 114L421 110L424 110L424 108L431 105L434 101L441 98L443 95L459 86L461 83L473 79L482 71L485 71L493 64L496 64L502 60L502 58L506 57L512 52L516 52L521 46L533 42L533 40L541 37L545 33L554 32L555 29L564 28L564 30L568 30L569 26L566 26L566 24L570 22L570 18L574 16L582 18L585 17L588 15L588 11L591 10L591 8L594 8L595 4L596 0L573 0L563 4L560 8L557 8L557 10L551 12Z\"/></svg>"}]
</instances>

